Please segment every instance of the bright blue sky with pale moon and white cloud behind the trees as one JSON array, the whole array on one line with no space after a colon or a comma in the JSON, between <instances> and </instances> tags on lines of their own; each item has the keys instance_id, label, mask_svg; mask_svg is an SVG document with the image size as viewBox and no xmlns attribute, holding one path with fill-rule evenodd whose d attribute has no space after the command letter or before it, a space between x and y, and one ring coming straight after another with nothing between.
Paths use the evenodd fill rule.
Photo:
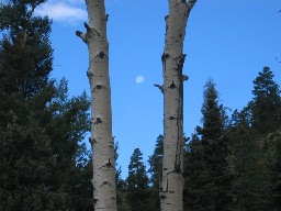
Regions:
<instances>
[{"instance_id":1,"label":"bright blue sky with pale moon and white cloud behind the trees","mask_svg":"<svg viewBox=\"0 0 281 211\"><path fill-rule=\"evenodd\" d=\"M134 148L146 163L162 134L161 54L168 1L105 0L110 43L113 135L119 142L122 176ZM188 20L183 53L184 126L190 136L201 124L203 87L209 78L216 84L221 103L240 110L252 98L252 80L265 66L281 85L281 1L198 0ZM279 13L278 13L279 12ZM85 0L48 0L37 15L53 20L54 73L66 77L69 95L90 95L87 78L87 45L75 35L85 31ZM229 111L231 112L231 111ZM148 167L148 164L147 164Z\"/></svg>"}]
</instances>

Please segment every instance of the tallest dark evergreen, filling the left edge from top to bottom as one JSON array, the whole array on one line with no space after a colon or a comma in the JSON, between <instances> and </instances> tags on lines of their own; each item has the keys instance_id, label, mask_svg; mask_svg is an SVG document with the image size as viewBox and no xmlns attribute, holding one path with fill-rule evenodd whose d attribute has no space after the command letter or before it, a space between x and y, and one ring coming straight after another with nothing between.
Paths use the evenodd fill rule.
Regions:
<instances>
[{"instance_id":1,"label":"tallest dark evergreen, filling the left edge from top to bottom","mask_svg":"<svg viewBox=\"0 0 281 211\"><path fill-rule=\"evenodd\" d=\"M48 80L53 59L49 20L33 16L40 2L0 5L4 33L0 43L1 210L66 208L64 192L49 186L55 160L40 120L55 91Z\"/></svg>"}]
</instances>

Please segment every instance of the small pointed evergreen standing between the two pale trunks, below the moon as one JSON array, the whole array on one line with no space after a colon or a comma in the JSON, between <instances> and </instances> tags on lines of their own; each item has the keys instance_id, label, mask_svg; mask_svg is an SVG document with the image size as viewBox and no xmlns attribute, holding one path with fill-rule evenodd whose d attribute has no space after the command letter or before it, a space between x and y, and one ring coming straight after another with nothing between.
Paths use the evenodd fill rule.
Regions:
<instances>
[{"instance_id":1,"label":"small pointed evergreen standing between the two pale trunks, below the moon","mask_svg":"<svg viewBox=\"0 0 281 211\"><path fill-rule=\"evenodd\" d=\"M143 163L143 154L135 148L128 165L127 201L131 211L149 210L149 179Z\"/></svg>"}]
</instances>

